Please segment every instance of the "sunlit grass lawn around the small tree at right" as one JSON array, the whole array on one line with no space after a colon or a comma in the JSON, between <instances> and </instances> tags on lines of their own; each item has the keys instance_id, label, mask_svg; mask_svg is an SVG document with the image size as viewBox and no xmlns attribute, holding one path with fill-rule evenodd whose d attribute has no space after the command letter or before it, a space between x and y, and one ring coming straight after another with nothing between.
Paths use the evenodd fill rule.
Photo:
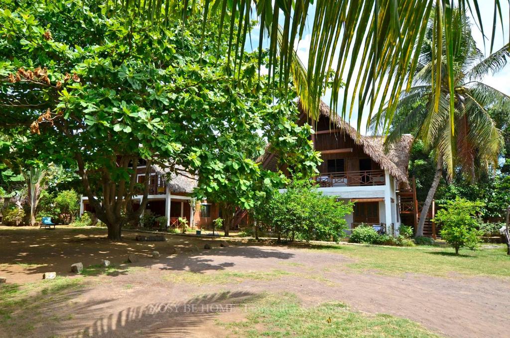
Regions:
<instances>
[{"instance_id":1,"label":"sunlit grass lawn around the small tree at right","mask_svg":"<svg viewBox=\"0 0 510 338\"><path fill-rule=\"evenodd\" d=\"M358 271L377 270L399 274L413 272L430 276L510 277L510 256L506 247L461 250L455 255L449 247L386 247L376 245L316 245L313 250L343 254L356 259L347 267Z\"/></svg>"}]
</instances>

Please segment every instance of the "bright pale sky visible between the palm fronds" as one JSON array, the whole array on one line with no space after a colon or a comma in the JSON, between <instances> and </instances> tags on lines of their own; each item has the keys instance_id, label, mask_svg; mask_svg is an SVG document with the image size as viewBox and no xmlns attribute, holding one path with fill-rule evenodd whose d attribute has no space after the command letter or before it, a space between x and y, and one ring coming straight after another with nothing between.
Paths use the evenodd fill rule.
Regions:
<instances>
[{"instance_id":1,"label":"bright pale sky visible between the palm fronds","mask_svg":"<svg viewBox=\"0 0 510 338\"><path fill-rule=\"evenodd\" d=\"M507 43L509 41L510 33L508 30L508 27L510 25L510 16L508 15L508 13L510 12L510 9L508 8L508 3L506 3L506 2L501 2L501 3L502 3L501 11L503 13L502 16L503 16L503 21L504 21L504 24L503 24L504 30L503 31L501 30L501 24L498 22L497 27L496 27L496 35L495 35L493 51L500 49L501 47L504 46L505 42ZM315 6L311 6L309 8L309 18L308 18L309 22L313 19L314 11L315 11ZM490 54L490 39L491 39L493 18L494 18L494 4L493 4L493 2L488 1L488 0L484 1L483 6L480 7L480 14L481 14L481 19L482 19L482 23L483 23L484 33L486 34L485 48L484 48L484 44L483 44L484 39L482 37L482 34L481 34L480 30L476 27L476 25L474 25L474 22L477 22L477 20L474 20L474 19L471 19L471 21L473 23L472 34L473 34L473 38L475 39L478 48L480 48L482 51L484 51L486 56L488 56ZM498 18L498 21L499 21L499 18ZM283 24L283 22L281 24ZM307 26L309 26L309 25L310 24L308 24ZM311 30L307 27L303 32L302 39L298 42L297 46L295 47L296 54L301 59L301 61L303 62L304 65L308 64L308 54L310 51L310 34L309 34L310 32L311 32ZM252 40L251 42L252 42L252 46L254 48L258 47L258 44L259 44L258 37L259 37L259 29L256 27L251 32L251 40ZM335 62L334 62L334 64L335 64ZM349 62L347 64L349 64ZM359 66L356 65L356 68L358 68L358 67ZM345 71L345 73L347 73L347 70ZM356 71L354 73L356 73ZM503 92L504 94L510 95L510 63L507 64L497 74L486 76L486 78L483 80L483 82L489 86L496 88L497 90ZM343 95L345 95L345 93L341 90L340 100L342 100ZM347 95L348 95L348 100L349 100L350 97L352 97L352 91L347 93ZM330 91L326 91L326 94L323 96L323 100L324 100L324 102L329 104ZM349 101L348 101L348 103L349 103ZM354 108L354 111L352 112L352 116L351 116L350 120L348 119L348 117L346 117L346 120L348 120L349 123L351 123L354 127L356 127L356 123L358 120L358 109L356 108L356 105L354 105L354 107L355 108ZM366 120L367 120L367 113L368 113L368 109L366 109L364 111L364 114L363 114L364 116L362 118L362 127L360 130L360 132L362 134L366 134L365 125L366 125Z\"/></svg>"}]
</instances>

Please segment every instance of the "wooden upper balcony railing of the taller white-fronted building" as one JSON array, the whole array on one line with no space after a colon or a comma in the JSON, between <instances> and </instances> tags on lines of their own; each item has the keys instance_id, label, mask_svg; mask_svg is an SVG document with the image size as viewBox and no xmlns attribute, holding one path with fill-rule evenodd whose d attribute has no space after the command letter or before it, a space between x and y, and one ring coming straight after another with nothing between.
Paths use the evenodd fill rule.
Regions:
<instances>
[{"instance_id":1,"label":"wooden upper balcony railing of the taller white-fronted building","mask_svg":"<svg viewBox=\"0 0 510 338\"><path fill-rule=\"evenodd\" d=\"M313 178L320 187L384 186L384 170L326 172Z\"/></svg>"}]
</instances>

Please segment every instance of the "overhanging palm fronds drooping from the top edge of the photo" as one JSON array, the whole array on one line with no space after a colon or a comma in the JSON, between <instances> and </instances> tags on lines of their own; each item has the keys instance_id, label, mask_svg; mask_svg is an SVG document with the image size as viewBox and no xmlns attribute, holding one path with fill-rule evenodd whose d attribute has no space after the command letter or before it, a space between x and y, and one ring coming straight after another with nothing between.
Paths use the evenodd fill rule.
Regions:
<instances>
[{"instance_id":1,"label":"overhanging palm fronds drooping from the top edge of the photo","mask_svg":"<svg viewBox=\"0 0 510 338\"><path fill-rule=\"evenodd\" d=\"M427 32L427 21L434 13L431 47L436 58L436 73L446 63L453 67L452 50L452 11L458 8L462 13L470 13L483 30L480 6L487 7L487 1L479 0L106 0L107 10L112 15L144 15L154 24L166 25L170 16L181 17L183 23L194 13L203 17L202 34L207 30L208 19L220 22L218 41L223 34L228 35L228 62L234 62L234 68L240 69L243 62L242 50L247 37L250 36L250 21L256 19L260 27L260 58L263 40L268 41L269 75L273 81L279 77L280 85L288 83L293 62L295 43L303 36L305 29L310 33L310 53L307 64L306 87L298 86L302 104L310 114L317 114L324 85L329 77L329 69L335 69L333 94L330 106L335 108L342 103L343 115L352 112L358 103L358 126L363 117L365 102L369 102L369 121L380 120L382 107L390 98L390 113L385 122L391 120L397 100L402 90L409 90L402 85L407 75L413 76L420 53L415 46L421 46ZM503 23L501 3L494 0L494 28L492 31L491 51L495 40L496 23ZM508 0L506 0L508 2ZM102 3L102 2L101 2ZM105 10L105 9L101 9ZM278 34L278 22L283 22L283 32ZM443 28L446 32L443 45ZM501 30L502 31L502 30ZM278 43L278 39L281 43ZM437 53L448 46L445 53ZM359 71L354 71L359 69ZM385 76L389 71L394 76ZM432 80L436 88L441 87L441 78ZM453 79L450 79L453 80ZM339 90L345 82L345 92L353 91L353 99L347 101L347 95L340 102ZM276 83L276 82L275 82ZM270 86L269 86L270 87ZM448 89L453 93L453 81ZM354 99L356 98L356 99ZM437 102L436 102L437 103ZM450 101L453 107L454 101ZM375 110L374 107L380 107ZM435 106L437 108L437 104ZM453 108L451 109L453 110ZM365 110L366 111L366 110ZM435 110L435 114L438 110ZM453 128L451 133L454 133ZM453 134L452 134L453 136Z\"/></svg>"}]
</instances>

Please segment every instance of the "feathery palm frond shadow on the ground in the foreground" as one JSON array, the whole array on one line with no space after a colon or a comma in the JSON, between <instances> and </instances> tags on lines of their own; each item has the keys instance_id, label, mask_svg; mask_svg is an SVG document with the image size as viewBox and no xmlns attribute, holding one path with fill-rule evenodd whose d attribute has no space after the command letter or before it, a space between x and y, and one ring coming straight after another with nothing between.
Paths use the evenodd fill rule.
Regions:
<instances>
[{"instance_id":1,"label":"feathery palm frond shadow on the ground in the foreground","mask_svg":"<svg viewBox=\"0 0 510 338\"><path fill-rule=\"evenodd\" d=\"M86 327L70 327L66 324L67 337L129 337L129 336L162 336L186 337L193 329L213 321L218 314L231 312L240 305L261 297L250 292L223 292L194 297L187 301L175 303L150 303L142 306L128 306L117 313L102 315L96 313L97 303L87 302L77 308L74 313L85 316L99 315L92 324ZM202 332L203 333L203 332Z\"/></svg>"}]
</instances>

